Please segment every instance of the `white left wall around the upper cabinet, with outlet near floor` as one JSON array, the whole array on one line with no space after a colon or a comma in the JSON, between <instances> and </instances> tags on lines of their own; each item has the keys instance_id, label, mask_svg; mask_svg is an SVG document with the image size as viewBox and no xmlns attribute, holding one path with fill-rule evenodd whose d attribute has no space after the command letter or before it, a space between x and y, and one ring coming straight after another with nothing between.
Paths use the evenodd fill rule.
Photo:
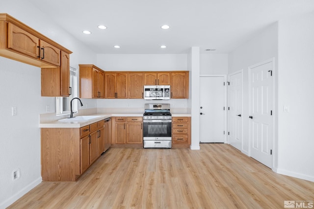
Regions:
<instances>
[{"instance_id":1,"label":"white left wall around the upper cabinet, with outlet near floor","mask_svg":"<svg viewBox=\"0 0 314 209\"><path fill-rule=\"evenodd\" d=\"M26 0L1 0L0 13L8 13L73 51L72 67L96 63L92 50ZM0 57L0 127L4 130L0 140L0 209L41 182L39 114L46 113L46 105L50 113L55 112L55 98L41 97L40 86L40 68ZM95 101L89 102L96 106ZM12 106L17 107L17 116L11 116ZM12 171L18 168L21 177L12 181Z\"/></svg>"}]
</instances>

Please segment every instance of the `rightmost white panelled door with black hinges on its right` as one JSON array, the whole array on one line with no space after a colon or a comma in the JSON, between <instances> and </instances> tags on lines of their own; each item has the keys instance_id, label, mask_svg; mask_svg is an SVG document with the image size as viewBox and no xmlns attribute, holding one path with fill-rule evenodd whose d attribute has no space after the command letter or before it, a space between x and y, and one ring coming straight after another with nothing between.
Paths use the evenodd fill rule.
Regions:
<instances>
[{"instance_id":1,"label":"rightmost white panelled door with black hinges on its right","mask_svg":"<svg viewBox=\"0 0 314 209\"><path fill-rule=\"evenodd\" d=\"M272 167L273 145L273 62L249 68L250 156Z\"/></svg>"}]
</instances>

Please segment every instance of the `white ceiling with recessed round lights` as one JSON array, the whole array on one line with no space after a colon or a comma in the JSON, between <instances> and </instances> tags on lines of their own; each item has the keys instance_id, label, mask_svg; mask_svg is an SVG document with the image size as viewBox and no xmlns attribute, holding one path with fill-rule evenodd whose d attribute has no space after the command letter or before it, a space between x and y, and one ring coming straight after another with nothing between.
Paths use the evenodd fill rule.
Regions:
<instances>
[{"instance_id":1,"label":"white ceiling with recessed round lights","mask_svg":"<svg viewBox=\"0 0 314 209\"><path fill-rule=\"evenodd\" d=\"M314 11L314 0L28 1L101 54L228 53L278 20Z\"/></svg>"}]
</instances>

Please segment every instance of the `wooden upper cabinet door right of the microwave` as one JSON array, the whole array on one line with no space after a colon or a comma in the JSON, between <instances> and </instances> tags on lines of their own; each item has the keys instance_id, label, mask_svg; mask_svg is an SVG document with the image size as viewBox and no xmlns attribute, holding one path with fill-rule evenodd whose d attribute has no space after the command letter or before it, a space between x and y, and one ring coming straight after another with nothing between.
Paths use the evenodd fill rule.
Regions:
<instances>
[{"instance_id":1,"label":"wooden upper cabinet door right of the microwave","mask_svg":"<svg viewBox=\"0 0 314 209\"><path fill-rule=\"evenodd\" d=\"M188 98L188 74L171 73L171 98Z\"/></svg>"}]
</instances>

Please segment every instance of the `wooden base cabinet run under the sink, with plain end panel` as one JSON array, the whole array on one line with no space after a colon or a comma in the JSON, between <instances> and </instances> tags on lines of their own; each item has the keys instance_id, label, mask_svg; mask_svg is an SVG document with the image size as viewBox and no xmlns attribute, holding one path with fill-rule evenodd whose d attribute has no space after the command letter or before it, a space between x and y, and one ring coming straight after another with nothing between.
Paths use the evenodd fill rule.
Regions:
<instances>
[{"instance_id":1,"label":"wooden base cabinet run under the sink, with plain end panel","mask_svg":"<svg viewBox=\"0 0 314 209\"><path fill-rule=\"evenodd\" d=\"M105 127L110 124L101 120L81 128L41 128L42 180L76 181L109 148Z\"/></svg>"}]
</instances>

